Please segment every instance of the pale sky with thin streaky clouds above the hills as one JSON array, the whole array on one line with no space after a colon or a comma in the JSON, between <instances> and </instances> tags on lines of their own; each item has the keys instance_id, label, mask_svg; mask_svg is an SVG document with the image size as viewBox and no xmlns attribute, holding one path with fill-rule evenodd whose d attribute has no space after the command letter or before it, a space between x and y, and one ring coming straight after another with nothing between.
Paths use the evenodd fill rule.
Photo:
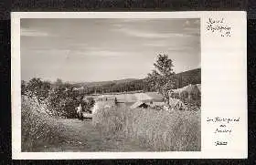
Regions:
<instances>
[{"instance_id":1,"label":"pale sky with thin streaky clouds above the hills","mask_svg":"<svg viewBox=\"0 0 256 165\"><path fill-rule=\"evenodd\" d=\"M199 19L21 19L21 78L144 78L158 54L176 73L200 67Z\"/></svg>"}]
</instances>

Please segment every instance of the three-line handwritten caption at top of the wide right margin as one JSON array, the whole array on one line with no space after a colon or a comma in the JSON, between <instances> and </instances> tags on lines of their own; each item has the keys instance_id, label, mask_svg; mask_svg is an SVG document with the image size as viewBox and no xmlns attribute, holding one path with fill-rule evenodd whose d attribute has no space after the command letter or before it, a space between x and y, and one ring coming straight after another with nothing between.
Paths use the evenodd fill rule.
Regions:
<instances>
[{"instance_id":1,"label":"three-line handwritten caption at top of the wide right margin","mask_svg":"<svg viewBox=\"0 0 256 165\"><path fill-rule=\"evenodd\" d=\"M207 31L219 36L230 36L231 26L228 26L224 18L208 18Z\"/></svg>"}]
</instances>

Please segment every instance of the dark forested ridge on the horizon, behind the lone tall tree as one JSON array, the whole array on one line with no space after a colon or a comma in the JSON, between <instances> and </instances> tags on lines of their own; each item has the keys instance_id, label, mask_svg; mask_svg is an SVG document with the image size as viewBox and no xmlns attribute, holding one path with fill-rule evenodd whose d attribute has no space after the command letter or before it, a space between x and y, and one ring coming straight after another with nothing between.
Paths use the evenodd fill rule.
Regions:
<instances>
[{"instance_id":1,"label":"dark forested ridge on the horizon, behind the lone tall tree","mask_svg":"<svg viewBox=\"0 0 256 165\"><path fill-rule=\"evenodd\" d=\"M178 82L176 88L182 88L188 84L201 83L201 68L188 70L177 74ZM100 81L100 82L84 82L73 84L73 87L83 87L82 93L109 93L109 92L124 92L134 90L152 91L144 82L144 79L127 78L113 81Z\"/></svg>"}]
</instances>

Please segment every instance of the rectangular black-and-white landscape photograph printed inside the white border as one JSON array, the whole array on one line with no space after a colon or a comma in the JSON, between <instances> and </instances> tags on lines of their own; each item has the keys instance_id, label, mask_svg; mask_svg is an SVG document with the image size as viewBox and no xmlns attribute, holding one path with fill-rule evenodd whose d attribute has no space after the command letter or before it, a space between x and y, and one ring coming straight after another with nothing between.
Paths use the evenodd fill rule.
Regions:
<instances>
[{"instance_id":1,"label":"rectangular black-and-white landscape photograph printed inside the white border","mask_svg":"<svg viewBox=\"0 0 256 165\"><path fill-rule=\"evenodd\" d=\"M21 151L201 150L200 18L20 19Z\"/></svg>"}]
</instances>

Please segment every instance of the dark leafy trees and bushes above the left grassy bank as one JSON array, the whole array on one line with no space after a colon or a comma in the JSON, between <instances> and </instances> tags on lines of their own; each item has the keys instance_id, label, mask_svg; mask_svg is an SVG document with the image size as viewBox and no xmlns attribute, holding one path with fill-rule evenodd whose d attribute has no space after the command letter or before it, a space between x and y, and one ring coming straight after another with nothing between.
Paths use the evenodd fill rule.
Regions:
<instances>
[{"instance_id":1,"label":"dark leafy trees and bushes above the left grassy bank","mask_svg":"<svg viewBox=\"0 0 256 165\"><path fill-rule=\"evenodd\" d=\"M76 118L75 108L81 104L85 111L90 111L94 105L93 98L83 99L83 95L73 90L69 83L63 83L59 78L55 83L44 81L38 77L28 82L21 82L21 95L36 98L39 103L48 106L54 116Z\"/></svg>"}]
</instances>

